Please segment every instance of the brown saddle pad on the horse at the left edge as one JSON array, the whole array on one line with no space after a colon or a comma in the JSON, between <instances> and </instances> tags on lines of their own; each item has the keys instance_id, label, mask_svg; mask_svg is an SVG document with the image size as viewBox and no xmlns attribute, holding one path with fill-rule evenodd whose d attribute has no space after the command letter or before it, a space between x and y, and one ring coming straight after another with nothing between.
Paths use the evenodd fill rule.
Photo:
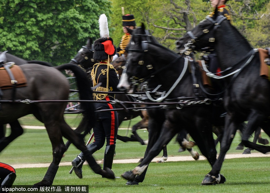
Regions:
<instances>
[{"instance_id":1,"label":"brown saddle pad on the horse at the left edge","mask_svg":"<svg viewBox=\"0 0 270 193\"><path fill-rule=\"evenodd\" d=\"M25 75L22 72L21 67L17 65L13 65L10 68L11 72L13 73L13 76L18 83L16 84L16 87L23 87L27 86L27 80L25 78ZM6 72L6 69L4 67L0 68L0 88L2 90L4 89L11 89L13 84L11 83L11 79L8 75L8 72Z\"/></svg>"}]
</instances>

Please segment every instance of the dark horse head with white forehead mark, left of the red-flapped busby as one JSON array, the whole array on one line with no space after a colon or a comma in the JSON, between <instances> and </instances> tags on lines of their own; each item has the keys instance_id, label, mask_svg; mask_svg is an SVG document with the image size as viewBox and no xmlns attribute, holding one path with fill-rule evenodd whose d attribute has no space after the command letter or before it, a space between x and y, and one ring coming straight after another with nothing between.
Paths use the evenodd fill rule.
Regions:
<instances>
[{"instance_id":1,"label":"dark horse head with white forehead mark, left of the red-flapped busby","mask_svg":"<svg viewBox=\"0 0 270 193\"><path fill-rule=\"evenodd\" d=\"M97 61L93 59L94 49L93 49L93 40L88 38L86 45L77 52L76 56L70 60L69 63L76 64L80 66L85 72L88 72ZM73 73L69 70L66 70L66 74L72 75Z\"/></svg>"}]
</instances>

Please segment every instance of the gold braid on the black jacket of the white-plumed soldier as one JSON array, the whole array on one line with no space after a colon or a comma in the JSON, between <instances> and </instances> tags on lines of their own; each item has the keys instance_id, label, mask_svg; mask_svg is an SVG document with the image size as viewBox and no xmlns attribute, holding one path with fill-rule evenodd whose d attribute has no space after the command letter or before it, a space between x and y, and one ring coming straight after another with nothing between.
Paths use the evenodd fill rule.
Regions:
<instances>
[{"instance_id":1,"label":"gold braid on the black jacket of the white-plumed soldier","mask_svg":"<svg viewBox=\"0 0 270 193\"><path fill-rule=\"evenodd\" d=\"M97 82L96 82L96 76L97 76L97 69L100 65L107 65L107 69L105 70L101 70L101 73L98 75L97 77ZM95 68L96 67L96 68ZM94 89L94 91L103 91L103 92L109 92L109 89L112 90L111 88L109 88L109 68L111 69L114 69L113 65L111 65L110 63L96 63L94 66L93 66L93 69L91 71L91 77L92 77L92 80L93 80L93 86L95 87L97 85L97 83L99 83L99 77L101 75L106 75L107 76L107 83L106 83L106 88L105 87L102 87L102 86L99 86L97 87L96 89ZM94 69L95 69L95 72L94 72ZM114 69L115 70L115 69ZM115 70L116 74L118 74L118 72ZM105 99L105 97L107 96L108 94L100 94L100 93L93 93L93 98L94 100L102 100L102 99Z\"/></svg>"}]
</instances>

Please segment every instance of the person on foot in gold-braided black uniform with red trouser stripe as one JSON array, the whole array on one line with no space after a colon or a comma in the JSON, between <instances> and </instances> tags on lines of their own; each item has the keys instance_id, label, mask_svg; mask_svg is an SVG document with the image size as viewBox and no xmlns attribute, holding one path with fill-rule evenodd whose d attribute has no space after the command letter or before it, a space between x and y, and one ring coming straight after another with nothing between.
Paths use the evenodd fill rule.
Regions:
<instances>
[{"instance_id":1,"label":"person on foot in gold-braided black uniform with red trouser stripe","mask_svg":"<svg viewBox=\"0 0 270 193\"><path fill-rule=\"evenodd\" d=\"M91 77L93 85L101 83L95 91L118 92L117 84L119 78L116 70L110 64L113 56L116 54L116 47L113 45L112 38L100 38L94 42L95 50L93 58L100 61L93 66ZM114 100L114 94L94 93L94 100L110 101ZM97 110L114 109L110 103L95 103ZM96 114L96 124L93 127L95 141L87 146L87 149L93 154L103 147L106 140L106 149L104 153L103 168L112 168L116 136L118 131L118 118L116 111L100 112ZM79 178L82 178L82 165L85 162L83 153L80 153L73 161L74 171Z\"/></svg>"}]
</instances>

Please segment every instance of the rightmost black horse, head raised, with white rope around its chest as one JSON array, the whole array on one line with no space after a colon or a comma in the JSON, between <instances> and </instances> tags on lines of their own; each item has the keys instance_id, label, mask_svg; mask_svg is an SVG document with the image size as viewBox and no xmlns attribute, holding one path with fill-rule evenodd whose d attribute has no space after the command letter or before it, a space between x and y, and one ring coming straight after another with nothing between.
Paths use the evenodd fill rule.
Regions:
<instances>
[{"instance_id":1,"label":"rightmost black horse, head raised, with white rope around its chest","mask_svg":"<svg viewBox=\"0 0 270 193\"><path fill-rule=\"evenodd\" d=\"M187 44L184 46L185 43ZM261 127L268 136L270 135L269 80L260 76L257 49L251 48L248 41L231 25L230 21L217 14L217 10L214 16L207 17L181 38L177 45L179 49L185 47L183 52L188 48L198 51L205 47L214 48L222 76L227 83L224 105L228 113L225 118L220 155L202 182L202 184L213 184L218 178L225 154L230 148L238 125L243 121L248 121L247 128L242 133L243 145L261 153L270 151L269 146L248 141L249 136L258 127ZM214 73L210 72L209 75L215 77Z\"/></svg>"}]
</instances>

